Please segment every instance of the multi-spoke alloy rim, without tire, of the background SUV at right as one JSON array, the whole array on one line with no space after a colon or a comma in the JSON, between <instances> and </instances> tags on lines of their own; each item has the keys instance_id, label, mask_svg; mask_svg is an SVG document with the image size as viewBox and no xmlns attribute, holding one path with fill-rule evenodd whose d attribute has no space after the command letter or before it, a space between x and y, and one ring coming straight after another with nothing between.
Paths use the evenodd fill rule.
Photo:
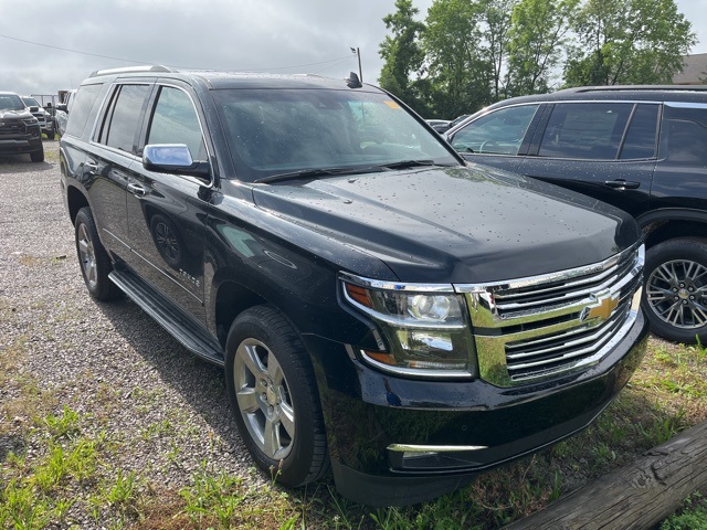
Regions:
<instances>
[{"instance_id":1,"label":"multi-spoke alloy rim, without tire, of the background SUV at right","mask_svg":"<svg viewBox=\"0 0 707 530\"><path fill-rule=\"evenodd\" d=\"M671 326L701 328L707 325L707 267L689 259L663 263L648 276L646 300Z\"/></svg>"}]
</instances>

